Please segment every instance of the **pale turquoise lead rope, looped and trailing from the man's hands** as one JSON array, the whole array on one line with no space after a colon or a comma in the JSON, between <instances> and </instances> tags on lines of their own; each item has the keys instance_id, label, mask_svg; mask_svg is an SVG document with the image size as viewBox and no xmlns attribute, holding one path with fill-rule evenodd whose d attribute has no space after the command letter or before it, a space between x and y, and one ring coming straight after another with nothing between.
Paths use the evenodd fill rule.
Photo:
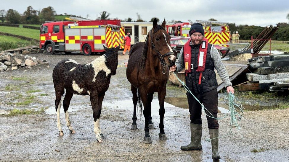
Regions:
<instances>
[{"instance_id":1,"label":"pale turquoise lead rope, looped and trailing from the man's hands","mask_svg":"<svg viewBox=\"0 0 289 162\"><path fill-rule=\"evenodd\" d=\"M173 72L174 73L174 72ZM176 74L174 73L174 75L176 76ZM179 82L181 82L181 84L184 86L184 88L190 93L192 94L192 92L190 91L190 89L186 86L186 84L181 81L179 79L178 76L176 76L176 78L179 80ZM226 91L227 92L227 91ZM206 111L208 111L210 114L208 115L205 111L205 114L208 116L208 117L211 117L213 119L216 119L216 120L221 120L221 119L224 119L224 118L227 118L227 117L231 117L231 120L230 120L230 125L229 125L229 133L227 133L226 135L223 135L221 137L216 137L216 138L223 138L223 137L226 137L227 135L229 134L232 134L233 136L237 137L237 138L243 138L243 134L242 132L240 131L241 130L241 127L239 125L238 122L241 121L241 119L243 118L243 106L242 106L242 103L240 102L239 99L237 99L237 97L235 97L234 94L232 94L232 92L229 93L229 96L226 96L226 92L224 93L225 94L225 99L227 99L229 101L229 110L228 112L223 116L223 117L213 117L213 115L211 114L210 111L208 111L208 109L206 109L204 107L203 104L201 104L201 102L197 99L197 97L192 94L192 96L200 103L200 105L202 106L202 108ZM238 112L239 111L239 112ZM228 115L230 112L230 115ZM235 135L233 132L232 132L232 128L233 127L236 127L237 131L241 134L241 137L238 137L237 135ZM216 139L216 138L205 138L206 141L211 141L213 139Z\"/></svg>"}]
</instances>

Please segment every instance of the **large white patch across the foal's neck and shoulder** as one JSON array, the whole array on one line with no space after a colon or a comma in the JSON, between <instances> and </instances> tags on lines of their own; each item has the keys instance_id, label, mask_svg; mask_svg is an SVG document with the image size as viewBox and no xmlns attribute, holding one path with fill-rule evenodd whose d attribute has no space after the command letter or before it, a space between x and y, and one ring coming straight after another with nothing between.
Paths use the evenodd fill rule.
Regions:
<instances>
[{"instance_id":1,"label":"large white patch across the foal's neck and shoulder","mask_svg":"<svg viewBox=\"0 0 289 162\"><path fill-rule=\"evenodd\" d=\"M91 63L87 63L85 64L85 66L92 66L93 71L94 71L94 77L92 79L93 82L96 81L96 76L99 73L99 71L104 71L106 76L108 76L111 71L110 69L105 65L106 62L106 55L102 55L99 58L95 59L94 61L92 61Z\"/></svg>"}]
</instances>

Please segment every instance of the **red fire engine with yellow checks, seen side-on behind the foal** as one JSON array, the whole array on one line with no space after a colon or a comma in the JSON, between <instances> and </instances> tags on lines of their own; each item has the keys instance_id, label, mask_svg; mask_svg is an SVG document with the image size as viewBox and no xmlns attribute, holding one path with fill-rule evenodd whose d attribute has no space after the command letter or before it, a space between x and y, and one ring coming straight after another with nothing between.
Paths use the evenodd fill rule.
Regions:
<instances>
[{"instance_id":1,"label":"red fire engine with yellow checks, seen side-on behind the foal","mask_svg":"<svg viewBox=\"0 0 289 162\"><path fill-rule=\"evenodd\" d=\"M48 54L75 51L90 55L121 45L124 48L124 27L120 20L49 22L41 25L40 48Z\"/></svg>"}]
</instances>

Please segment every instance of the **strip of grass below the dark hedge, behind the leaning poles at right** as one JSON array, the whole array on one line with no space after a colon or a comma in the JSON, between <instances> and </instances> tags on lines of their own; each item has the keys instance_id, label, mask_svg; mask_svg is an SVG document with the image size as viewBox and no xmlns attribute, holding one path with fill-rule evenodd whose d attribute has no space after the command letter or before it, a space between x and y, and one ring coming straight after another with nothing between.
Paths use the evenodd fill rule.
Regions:
<instances>
[{"instance_id":1,"label":"strip of grass below the dark hedge, behind the leaning poles at right","mask_svg":"<svg viewBox=\"0 0 289 162\"><path fill-rule=\"evenodd\" d=\"M240 40L242 42L250 42L251 40ZM262 51L269 50L270 48L270 42L268 41ZM282 52L289 52L289 40L288 41L282 41L282 40L272 40L271 41L271 50L277 50Z\"/></svg>"}]
</instances>

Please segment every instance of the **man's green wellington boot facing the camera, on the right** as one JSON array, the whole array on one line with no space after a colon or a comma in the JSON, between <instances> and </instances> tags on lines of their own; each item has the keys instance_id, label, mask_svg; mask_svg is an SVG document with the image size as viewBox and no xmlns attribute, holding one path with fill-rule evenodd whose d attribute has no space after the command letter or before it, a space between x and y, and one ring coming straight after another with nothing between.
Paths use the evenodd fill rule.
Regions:
<instances>
[{"instance_id":1,"label":"man's green wellington boot facing the camera, on the right","mask_svg":"<svg viewBox=\"0 0 289 162\"><path fill-rule=\"evenodd\" d=\"M209 129L210 138L212 143L212 159L220 159L219 155L219 129Z\"/></svg>"}]
</instances>

